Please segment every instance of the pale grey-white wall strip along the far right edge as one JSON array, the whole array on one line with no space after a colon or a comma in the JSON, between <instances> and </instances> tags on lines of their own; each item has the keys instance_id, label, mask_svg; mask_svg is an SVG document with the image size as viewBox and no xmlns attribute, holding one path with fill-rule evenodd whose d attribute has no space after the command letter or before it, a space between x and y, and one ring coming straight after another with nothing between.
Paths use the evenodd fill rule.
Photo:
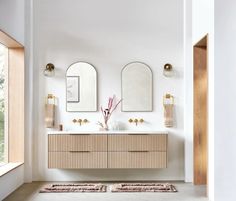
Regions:
<instances>
[{"instance_id":1,"label":"pale grey-white wall strip along the far right edge","mask_svg":"<svg viewBox=\"0 0 236 201\"><path fill-rule=\"evenodd\" d=\"M215 1L215 201L236 200L235 8Z\"/></svg>"}]
</instances>

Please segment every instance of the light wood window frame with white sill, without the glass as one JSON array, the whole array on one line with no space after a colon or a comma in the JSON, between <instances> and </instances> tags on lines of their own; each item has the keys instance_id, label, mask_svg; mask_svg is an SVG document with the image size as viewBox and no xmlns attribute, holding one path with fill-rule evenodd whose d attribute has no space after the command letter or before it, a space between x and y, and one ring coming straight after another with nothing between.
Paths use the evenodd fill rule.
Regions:
<instances>
[{"instance_id":1,"label":"light wood window frame with white sill, without the glass","mask_svg":"<svg viewBox=\"0 0 236 201\"><path fill-rule=\"evenodd\" d=\"M0 43L7 47L6 100L4 114L5 163L0 177L24 164L25 50L24 46L0 29ZM5 93L5 92L4 92ZM11 121L9 121L11 119Z\"/></svg>"}]
</instances>

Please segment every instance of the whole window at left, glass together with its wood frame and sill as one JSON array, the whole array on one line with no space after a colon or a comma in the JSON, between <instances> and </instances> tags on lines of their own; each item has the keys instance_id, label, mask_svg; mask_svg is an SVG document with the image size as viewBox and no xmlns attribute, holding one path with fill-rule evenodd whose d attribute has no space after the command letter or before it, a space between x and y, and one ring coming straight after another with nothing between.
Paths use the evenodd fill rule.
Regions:
<instances>
[{"instance_id":1,"label":"whole window at left, glass together with its wood frame and sill","mask_svg":"<svg viewBox=\"0 0 236 201\"><path fill-rule=\"evenodd\" d=\"M24 164L24 46L0 30L0 177Z\"/></svg>"}]
</instances>

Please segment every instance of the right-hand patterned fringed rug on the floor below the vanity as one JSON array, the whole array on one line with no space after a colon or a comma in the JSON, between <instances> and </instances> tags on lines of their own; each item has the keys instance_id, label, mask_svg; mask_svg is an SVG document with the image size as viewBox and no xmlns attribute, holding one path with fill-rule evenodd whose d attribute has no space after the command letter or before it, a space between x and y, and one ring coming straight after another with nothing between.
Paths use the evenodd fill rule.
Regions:
<instances>
[{"instance_id":1,"label":"right-hand patterned fringed rug on the floor below the vanity","mask_svg":"<svg viewBox=\"0 0 236 201\"><path fill-rule=\"evenodd\" d=\"M120 183L112 185L111 192L177 192L177 189L168 183Z\"/></svg>"}]
</instances>

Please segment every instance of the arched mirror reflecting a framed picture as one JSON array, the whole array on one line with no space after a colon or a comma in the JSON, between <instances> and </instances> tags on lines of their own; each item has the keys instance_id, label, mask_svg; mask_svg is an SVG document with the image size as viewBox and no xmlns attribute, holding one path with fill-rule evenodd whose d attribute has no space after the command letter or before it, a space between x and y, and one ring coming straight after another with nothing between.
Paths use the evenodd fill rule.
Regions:
<instances>
[{"instance_id":1,"label":"arched mirror reflecting a framed picture","mask_svg":"<svg viewBox=\"0 0 236 201\"><path fill-rule=\"evenodd\" d=\"M86 62L76 62L66 71L68 112L97 111L97 72Z\"/></svg>"}]
</instances>

